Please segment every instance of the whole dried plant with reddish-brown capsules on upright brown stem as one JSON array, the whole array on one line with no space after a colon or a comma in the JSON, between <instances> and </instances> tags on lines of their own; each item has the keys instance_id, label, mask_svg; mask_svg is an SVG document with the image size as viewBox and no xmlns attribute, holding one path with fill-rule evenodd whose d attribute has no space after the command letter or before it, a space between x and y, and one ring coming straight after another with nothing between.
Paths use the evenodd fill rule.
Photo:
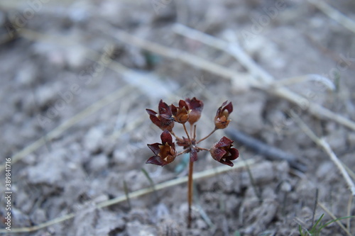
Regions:
<instances>
[{"instance_id":1,"label":"whole dried plant with reddish-brown capsules on upright brown stem","mask_svg":"<svg viewBox=\"0 0 355 236\"><path fill-rule=\"evenodd\" d=\"M239 156L238 150L232 147L233 141L229 140L227 137L222 137L222 139L214 144L210 149L197 146L200 142L206 140L210 135L212 135L216 130L226 128L230 122L230 120L228 120L229 114L233 111L231 102L227 104L227 101L225 101L217 110L217 114L214 118L215 127L212 132L197 141L195 123L200 119L203 106L204 103L194 97L193 99L185 99L185 101L180 100L179 106L174 106L173 104L168 106L168 104L160 100L158 113L150 109L146 109L152 122L160 129L164 130L160 135L161 143L156 142L148 145L155 155L149 158L146 163L164 166L165 164L173 162L174 159L180 154L190 154L187 191L187 199L189 204L187 227L190 227L192 222L192 172L193 164L198 159L198 152L202 150L209 151L212 158L217 160L217 162L227 164L231 167L233 167L233 163L231 161ZM190 133L187 131L185 125L187 121L190 123ZM174 122L182 124L187 137L178 137L175 135L173 132ZM176 152L175 142L173 142L173 137L171 135L174 135L177 145L183 147L184 150L182 152Z\"/></svg>"}]
</instances>

